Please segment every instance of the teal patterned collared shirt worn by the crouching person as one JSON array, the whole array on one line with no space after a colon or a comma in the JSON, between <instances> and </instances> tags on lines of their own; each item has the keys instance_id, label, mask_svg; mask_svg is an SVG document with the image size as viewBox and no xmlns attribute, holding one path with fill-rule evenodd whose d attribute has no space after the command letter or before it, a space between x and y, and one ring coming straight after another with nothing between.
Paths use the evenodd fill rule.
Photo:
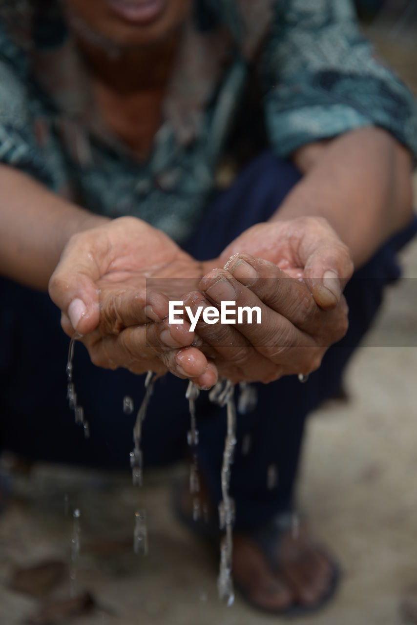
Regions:
<instances>
[{"instance_id":1,"label":"teal patterned collared shirt worn by the crouching person","mask_svg":"<svg viewBox=\"0 0 417 625\"><path fill-rule=\"evenodd\" d=\"M416 103L361 36L349 0L198 0L145 163L94 111L59 2L0 0L0 162L176 241L208 206L219 162L237 149L231 138L264 129L286 158L369 125L417 159Z\"/></svg>"}]
</instances>

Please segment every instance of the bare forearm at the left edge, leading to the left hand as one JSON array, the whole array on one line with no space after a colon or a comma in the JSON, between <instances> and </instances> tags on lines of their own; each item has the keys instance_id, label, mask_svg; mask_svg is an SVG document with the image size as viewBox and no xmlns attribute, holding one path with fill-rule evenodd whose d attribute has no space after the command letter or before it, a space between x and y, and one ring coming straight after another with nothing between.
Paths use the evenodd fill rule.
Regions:
<instances>
[{"instance_id":1,"label":"bare forearm at the left edge, leading to the left hand","mask_svg":"<svg viewBox=\"0 0 417 625\"><path fill-rule=\"evenodd\" d=\"M0 273L48 290L66 243L108 221L62 199L20 171L0 165Z\"/></svg>"}]
</instances>

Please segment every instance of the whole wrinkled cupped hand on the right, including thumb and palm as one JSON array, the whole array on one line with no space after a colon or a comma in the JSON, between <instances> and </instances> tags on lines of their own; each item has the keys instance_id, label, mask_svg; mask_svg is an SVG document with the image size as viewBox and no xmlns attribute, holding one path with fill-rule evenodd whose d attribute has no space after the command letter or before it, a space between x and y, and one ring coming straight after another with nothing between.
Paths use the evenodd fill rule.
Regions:
<instances>
[{"instance_id":1,"label":"whole wrinkled cupped hand on the right, including thumb and palm","mask_svg":"<svg viewBox=\"0 0 417 625\"><path fill-rule=\"evenodd\" d=\"M204 276L200 291L184 298L186 306L195 314L198 306L236 301L236 306L261 307L263 319L260 326L198 323L199 348L221 376L270 382L286 374L308 374L346 333L348 307L342 291L353 262L325 219L256 224L226 247L217 263L224 269Z\"/></svg>"}]
</instances>

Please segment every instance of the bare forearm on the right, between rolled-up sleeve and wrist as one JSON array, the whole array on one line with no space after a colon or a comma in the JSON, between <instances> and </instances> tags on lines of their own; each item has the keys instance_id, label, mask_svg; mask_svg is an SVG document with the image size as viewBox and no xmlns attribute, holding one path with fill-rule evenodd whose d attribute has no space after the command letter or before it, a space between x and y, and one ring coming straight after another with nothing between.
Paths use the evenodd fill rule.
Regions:
<instances>
[{"instance_id":1,"label":"bare forearm on the right, between rolled-up sleeve and wrist","mask_svg":"<svg viewBox=\"0 0 417 625\"><path fill-rule=\"evenodd\" d=\"M325 217L364 264L412 214L411 156L391 135L364 128L294 154L303 172L275 219Z\"/></svg>"}]
</instances>

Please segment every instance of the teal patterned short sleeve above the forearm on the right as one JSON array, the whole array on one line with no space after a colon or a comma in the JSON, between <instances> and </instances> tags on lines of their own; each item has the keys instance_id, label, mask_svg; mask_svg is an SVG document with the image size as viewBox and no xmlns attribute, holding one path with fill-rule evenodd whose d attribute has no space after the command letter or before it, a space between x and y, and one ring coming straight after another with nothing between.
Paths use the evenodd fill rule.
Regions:
<instances>
[{"instance_id":1,"label":"teal patterned short sleeve above the forearm on the right","mask_svg":"<svg viewBox=\"0 0 417 625\"><path fill-rule=\"evenodd\" d=\"M417 161L413 95L361 35L349 0L277 0L261 76L269 141L279 156L373 125Z\"/></svg>"}]
</instances>

